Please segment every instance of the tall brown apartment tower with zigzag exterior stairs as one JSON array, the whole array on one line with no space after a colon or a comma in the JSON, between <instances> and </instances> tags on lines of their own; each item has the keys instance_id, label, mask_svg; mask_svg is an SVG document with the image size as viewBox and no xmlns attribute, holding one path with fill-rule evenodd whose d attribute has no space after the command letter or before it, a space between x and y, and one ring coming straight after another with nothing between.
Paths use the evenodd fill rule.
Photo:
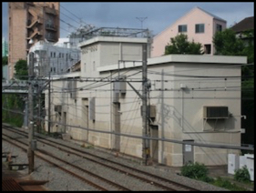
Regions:
<instances>
[{"instance_id":1,"label":"tall brown apartment tower with zigzag exterior stairs","mask_svg":"<svg viewBox=\"0 0 256 193\"><path fill-rule=\"evenodd\" d=\"M9 77L15 63L25 59L30 46L40 40L59 38L59 2L9 2Z\"/></svg>"}]
</instances>

